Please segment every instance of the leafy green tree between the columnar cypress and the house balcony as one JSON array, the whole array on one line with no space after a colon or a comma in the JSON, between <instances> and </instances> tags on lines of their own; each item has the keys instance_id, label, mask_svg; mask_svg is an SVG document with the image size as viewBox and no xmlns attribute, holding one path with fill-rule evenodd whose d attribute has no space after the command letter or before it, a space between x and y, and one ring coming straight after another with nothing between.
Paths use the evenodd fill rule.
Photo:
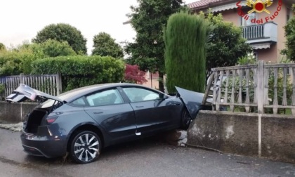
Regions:
<instances>
[{"instance_id":1,"label":"leafy green tree between the columnar cypress and the house balcony","mask_svg":"<svg viewBox=\"0 0 295 177\"><path fill-rule=\"evenodd\" d=\"M211 74L211 68L235 65L238 58L251 51L251 46L242 38L242 30L232 22L223 21L221 14L199 14L206 16L211 24L211 32L206 44L206 78Z\"/></svg>"}]
</instances>

